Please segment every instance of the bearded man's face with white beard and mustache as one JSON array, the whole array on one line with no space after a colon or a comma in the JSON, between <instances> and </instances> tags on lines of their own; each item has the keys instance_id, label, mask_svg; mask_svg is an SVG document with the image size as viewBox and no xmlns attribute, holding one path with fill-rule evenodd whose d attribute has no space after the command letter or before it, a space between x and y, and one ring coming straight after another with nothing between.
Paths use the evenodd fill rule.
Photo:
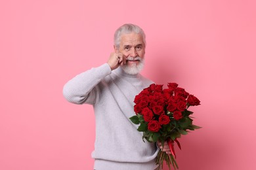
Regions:
<instances>
[{"instance_id":1,"label":"bearded man's face with white beard and mustache","mask_svg":"<svg viewBox=\"0 0 256 170\"><path fill-rule=\"evenodd\" d=\"M142 35L137 33L121 35L119 48L115 46L115 52L125 56L126 64L122 68L127 73L137 74L142 69L145 55L145 44Z\"/></svg>"}]
</instances>

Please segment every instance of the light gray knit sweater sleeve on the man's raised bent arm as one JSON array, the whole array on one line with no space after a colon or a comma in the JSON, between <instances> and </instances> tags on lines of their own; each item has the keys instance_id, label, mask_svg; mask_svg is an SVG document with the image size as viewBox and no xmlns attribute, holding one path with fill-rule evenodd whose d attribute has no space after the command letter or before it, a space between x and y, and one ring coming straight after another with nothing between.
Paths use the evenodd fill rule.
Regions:
<instances>
[{"instance_id":1,"label":"light gray knit sweater sleeve on the man's raised bent arm","mask_svg":"<svg viewBox=\"0 0 256 170\"><path fill-rule=\"evenodd\" d=\"M93 105L96 100L96 85L106 76L111 69L108 63L92 68L69 80L63 88L63 95L67 101L75 104L88 103Z\"/></svg>"}]
</instances>

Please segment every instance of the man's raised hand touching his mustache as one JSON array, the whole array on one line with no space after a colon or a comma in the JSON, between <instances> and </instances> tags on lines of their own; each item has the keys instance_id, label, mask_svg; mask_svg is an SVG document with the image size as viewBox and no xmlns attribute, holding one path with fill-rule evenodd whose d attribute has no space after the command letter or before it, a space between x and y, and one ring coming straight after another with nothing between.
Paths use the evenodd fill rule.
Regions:
<instances>
[{"instance_id":1,"label":"man's raised hand touching his mustache","mask_svg":"<svg viewBox=\"0 0 256 170\"><path fill-rule=\"evenodd\" d=\"M119 65L124 65L126 63L126 59L123 54L112 52L107 63L110 65L111 70L114 70L117 69Z\"/></svg>"}]
</instances>

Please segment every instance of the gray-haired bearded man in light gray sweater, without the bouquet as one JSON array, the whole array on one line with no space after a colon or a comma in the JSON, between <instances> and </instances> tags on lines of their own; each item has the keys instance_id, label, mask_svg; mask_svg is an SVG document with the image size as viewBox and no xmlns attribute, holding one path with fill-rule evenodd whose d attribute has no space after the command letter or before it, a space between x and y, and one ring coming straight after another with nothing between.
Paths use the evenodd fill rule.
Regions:
<instances>
[{"instance_id":1,"label":"gray-haired bearded man in light gray sweater, without the bouquet","mask_svg":"<svg viewBox=\"0 0 256 170\"><path fill-rule=\"evenodd\" d=\"M129 120L135 114L135 95L153 83L139 74L145 48L144 31L137 25L124 24L114 34L114 52L108 61L75 76L64 86L68 101L94 107L96 139L92 157L96 170L157 168L156 144L144 143L142 133ZM169 152L166 143L163 151Z\"/></svg>"}]
</instances>

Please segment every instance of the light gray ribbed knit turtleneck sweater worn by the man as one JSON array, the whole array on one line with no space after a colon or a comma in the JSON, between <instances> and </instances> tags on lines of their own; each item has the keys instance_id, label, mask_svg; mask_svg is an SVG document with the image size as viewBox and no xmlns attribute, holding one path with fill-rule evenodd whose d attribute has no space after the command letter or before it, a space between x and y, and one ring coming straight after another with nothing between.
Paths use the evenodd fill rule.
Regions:
<instances>
[{"instance_id":1,"label":"light gray ribbed knit turtleneck sweater worn by the man","mask_svg":"<svg viewBox=\"0 0 256 170\"><path fill-rule=\"evenodd\" d=\"M142 75L128 75L104 63L68 81L64 97L95 109L96 140L92 157L96 170L155 169L156 144L142 141L129 117L134 116L134 97L153 82Z\"/></svg>"}]
</instances>

